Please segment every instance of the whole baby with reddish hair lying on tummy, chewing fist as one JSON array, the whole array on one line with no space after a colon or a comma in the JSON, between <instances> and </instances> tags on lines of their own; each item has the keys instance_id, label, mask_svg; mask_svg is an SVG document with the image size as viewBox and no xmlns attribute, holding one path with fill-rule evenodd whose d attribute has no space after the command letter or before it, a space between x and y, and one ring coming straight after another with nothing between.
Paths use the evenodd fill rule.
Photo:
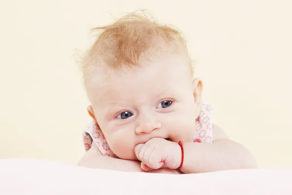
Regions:
<instances>
[{"instance_id":1,"label":"whole baby with reddish hair lying on tummy, chewing fist","mask_svg":"<svg viewBox=\"0 0 292 195\"><path fill-rule=\"evenodd\" d=\"M83 61L92 121L78 165L185 174L256 168L212 124L180 32L131 13L102 30Z\"/></svg>"}]
</instances>

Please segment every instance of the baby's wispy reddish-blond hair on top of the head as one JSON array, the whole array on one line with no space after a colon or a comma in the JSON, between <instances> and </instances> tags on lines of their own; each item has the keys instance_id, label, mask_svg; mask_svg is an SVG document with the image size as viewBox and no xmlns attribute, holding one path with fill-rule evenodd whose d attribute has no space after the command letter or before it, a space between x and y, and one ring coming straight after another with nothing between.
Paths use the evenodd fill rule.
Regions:
<instances>
[{"instance_id":1,"label":"baby's wispy reddish-blond hair on top of the head","mask_svg":"<svg viewBox=\"0 0 292 195\"><path fill-rule=\"evenodd\" d=\"M130 13L116 22L93 28L99 31L96 41L82 61L84 84L89 83L96 70L117 70L122 66L136 67L143 60L150 60L157 52L187 53L185 40L179 29L171 25L161 25L142 10ZM180 50L180 51L178 51ZM190 61L190 67L192 65Z\"/></svg>"}]
</instances>

